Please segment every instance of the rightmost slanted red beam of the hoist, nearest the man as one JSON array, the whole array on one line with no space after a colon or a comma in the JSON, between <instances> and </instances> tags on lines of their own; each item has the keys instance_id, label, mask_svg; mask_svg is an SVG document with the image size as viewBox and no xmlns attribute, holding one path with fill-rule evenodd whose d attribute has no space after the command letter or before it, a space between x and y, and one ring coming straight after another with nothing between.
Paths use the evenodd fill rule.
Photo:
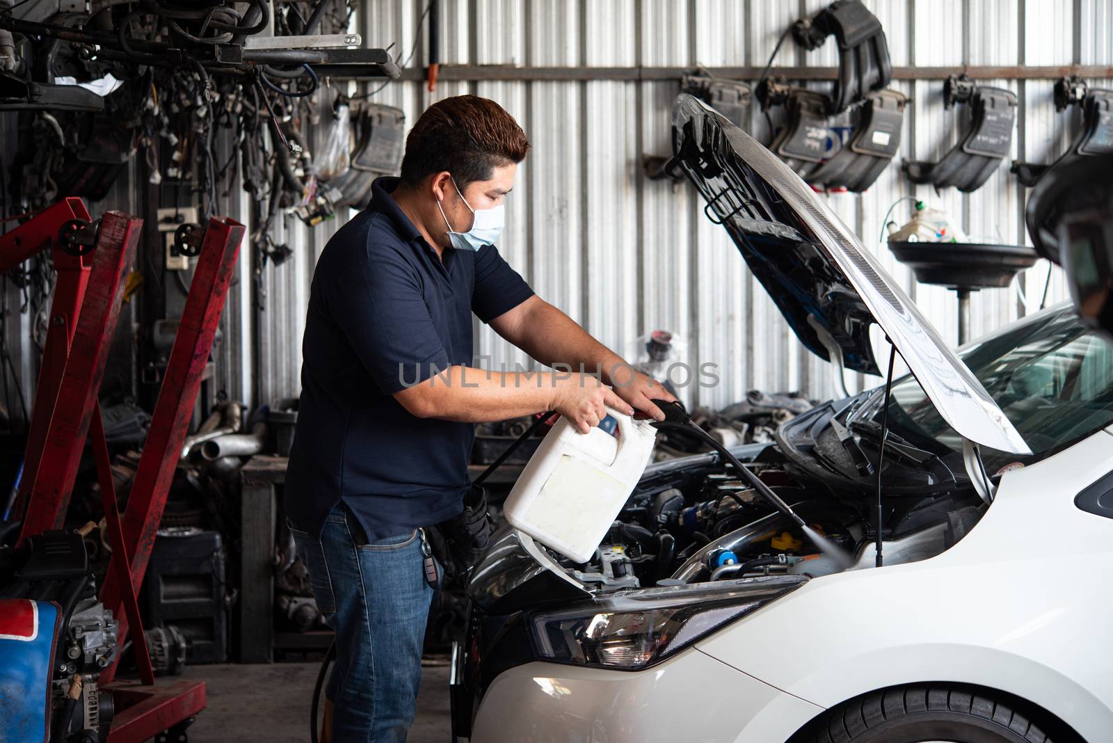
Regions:
<instances>
[{"instance_id":1,"label":"rightmost slanted red beam of the hoist, nearest the man","mask_svg":"<svg viewBox=\"0 0 1113 743\"><path fill-rule=\"evenodd\" d=\"M120 611L124 608L122 598L127 591L139 591L147 572L158 523L162 517L178 455L186 439L201 374L208 363L213 337L220 321L243 237L243 225L217 217L209 221L201 242L189 297L181 313L181 323L174 338L162 387L151 416L150 433L147 434L147 443L128 496L128 507L124 513L124 542L127 545L126 557L131 563L131 581L122 581L118 567L110 567L100 588L100 600L120 623L121 643L128 631L126 616ZM112 555L112 563L118 559L118 555ZM115 665L106 668L101 680L111 681L115 673ZM114 742L117 740L115 735L114 727Z\"/></svg>"}]
</instances>

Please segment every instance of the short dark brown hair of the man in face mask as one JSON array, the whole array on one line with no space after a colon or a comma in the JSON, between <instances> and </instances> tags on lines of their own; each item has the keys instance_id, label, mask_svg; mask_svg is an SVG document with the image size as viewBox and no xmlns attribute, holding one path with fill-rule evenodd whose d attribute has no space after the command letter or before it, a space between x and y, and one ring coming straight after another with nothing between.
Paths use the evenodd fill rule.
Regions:
<instances>
[{"instance_id":1,"label":"short dark brown hair of the man in face mask","mask_svg":"<svg viewBox=\"0 0 1113 743\"><path fill-rule=\"evenodd\" d=\"M521 162L530 151L514 117L487 98L455 96L425 109L406 136L402 185L447 170L463 189L487 180L494 168Z\"/></svg>"}]
</instances>

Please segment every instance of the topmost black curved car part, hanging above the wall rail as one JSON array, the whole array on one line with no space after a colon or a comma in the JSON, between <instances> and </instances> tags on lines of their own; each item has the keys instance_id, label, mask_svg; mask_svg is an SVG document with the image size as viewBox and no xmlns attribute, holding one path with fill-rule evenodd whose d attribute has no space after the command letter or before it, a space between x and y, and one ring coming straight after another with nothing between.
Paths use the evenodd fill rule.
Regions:
<instances>
[{"instance_id":1,"label":"topmost black curved car part, hanging above the wall rail","mask_svg":"<svg viewBox=\"0 0 1113 743\"><path fill-rule=\"evenodd\" d=\"M792 24L792 38L808 51L834 34L838 42L838 80L827 100L827 112L845 111L893 80L885 30L861 0L838 0Z\"/></svg>"}]
</instances>

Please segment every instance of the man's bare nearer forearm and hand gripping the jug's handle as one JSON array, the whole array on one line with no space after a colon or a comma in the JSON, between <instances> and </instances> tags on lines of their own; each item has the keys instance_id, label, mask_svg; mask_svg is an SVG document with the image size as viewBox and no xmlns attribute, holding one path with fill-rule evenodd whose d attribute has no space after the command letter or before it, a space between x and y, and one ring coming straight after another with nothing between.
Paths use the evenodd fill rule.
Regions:
<instances>
[{"instance_id":1,"label":"man's bare nearer forearm and hand gripping the jug's handle","mask_svg":"<svg viewBox=\"0 0 1113 743\"><path fill-rule=\"evenodd\" d=\"M604 405L633 410L598 379L571 373L500 373L467 366L444 371L394 393L418 418L484 423L556 410L585 434L607 416Z\"/></svg>"}]
</instances>

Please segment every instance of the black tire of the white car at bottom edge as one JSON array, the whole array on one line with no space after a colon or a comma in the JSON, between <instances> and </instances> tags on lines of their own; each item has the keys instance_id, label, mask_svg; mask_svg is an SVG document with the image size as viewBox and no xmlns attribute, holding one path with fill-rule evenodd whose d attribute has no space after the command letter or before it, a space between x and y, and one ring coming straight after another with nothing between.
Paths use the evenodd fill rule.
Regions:
<instances>
[{"instance_id":1,"label":"black tire of the white car at bottom edge","mask_svg":"<svg viewBox=\"0 0 1113 743\"><path fill-rule=\"evenodd\" d=\"M835 707L814 743L1052 743L1025 715L981 691L913 685L867 694Z\"/></svg>"}]
</instances>

